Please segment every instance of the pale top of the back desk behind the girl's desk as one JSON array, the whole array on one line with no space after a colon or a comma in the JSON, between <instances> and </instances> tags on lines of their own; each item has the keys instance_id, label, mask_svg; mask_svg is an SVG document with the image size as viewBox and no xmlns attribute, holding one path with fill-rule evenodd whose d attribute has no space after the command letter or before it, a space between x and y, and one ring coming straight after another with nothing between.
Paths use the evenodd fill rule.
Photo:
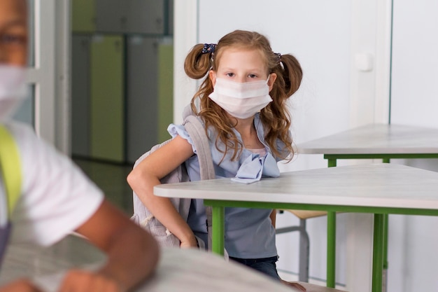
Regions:
<instances>
[{"instance_id":1,"label":"pale top of the back desk behind the girl's desk","mask_svg":"<svg viewBox=\"0 0 438 292\"><path fill-rule=\"evenodd\" d=\"M372 124L307 141L298 153L438 153L438 129L405 125Z\"/></svg>"}]
</instances>

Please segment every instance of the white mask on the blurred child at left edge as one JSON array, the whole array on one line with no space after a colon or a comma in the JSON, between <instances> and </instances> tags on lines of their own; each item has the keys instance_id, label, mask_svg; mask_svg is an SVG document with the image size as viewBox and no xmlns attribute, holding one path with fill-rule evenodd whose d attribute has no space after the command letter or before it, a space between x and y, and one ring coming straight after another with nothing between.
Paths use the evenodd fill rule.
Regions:
<instances>
[{"instance_id":1,"label":"white mask on the blurred child at left edge","mask_svg":"<svg viewBox=\"0 0 438 292\"><path fill-rule=\"evenodd\" d=\"M0 122L9 120L27 96L24 67L0 64Z\"/></svg>"}]
</instances>

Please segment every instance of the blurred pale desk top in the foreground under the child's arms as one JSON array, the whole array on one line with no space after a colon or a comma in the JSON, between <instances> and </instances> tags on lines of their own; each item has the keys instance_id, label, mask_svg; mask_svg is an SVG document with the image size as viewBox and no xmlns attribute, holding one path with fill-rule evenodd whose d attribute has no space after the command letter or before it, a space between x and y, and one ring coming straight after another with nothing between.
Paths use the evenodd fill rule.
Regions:
<instances>
[{"instance_id":1,"label":"blurred pale desk top in the foreground under the child's arms","mask_svg":"<svg viewBox=\"0 0 438 292\"><path fill-rule=\"evenodd\" d=\"M19 277L31 277L45 292L57 287L69 267L95 269L105 260L91 244L67 237L48 249L10 246L0 273L0 285ZM243 265L227 263L213 253L197 249L162 249L154 276L138 290L169 291L299 291L253 272Z\"/></svg>"}]
</instances>

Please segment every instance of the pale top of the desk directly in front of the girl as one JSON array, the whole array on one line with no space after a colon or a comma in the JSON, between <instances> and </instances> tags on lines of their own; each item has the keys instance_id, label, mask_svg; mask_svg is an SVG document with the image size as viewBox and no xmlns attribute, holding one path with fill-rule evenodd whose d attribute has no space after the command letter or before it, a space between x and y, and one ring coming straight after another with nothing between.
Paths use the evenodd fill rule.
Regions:
<instances>
[{"instance_id":1,"label":"pale top of the desk directly in front of the girl","mask_svg":"<svg viewBox=\"0 0 438 292\"><path fill-rule=\"evenodd\" d=\"M285 172L255 183L213 179L155 186L155 195L210 200L438 209L438 172L367 164Z\"/></svg>"}]
</instances>

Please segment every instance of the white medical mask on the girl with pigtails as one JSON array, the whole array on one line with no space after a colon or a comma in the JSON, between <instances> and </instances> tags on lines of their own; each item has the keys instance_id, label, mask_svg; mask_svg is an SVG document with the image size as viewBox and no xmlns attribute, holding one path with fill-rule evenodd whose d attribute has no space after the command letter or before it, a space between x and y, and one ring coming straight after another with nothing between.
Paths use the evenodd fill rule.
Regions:
<instances>
[{"instance_id":1,"label":"white medical mask on the girl with pigtails","mask_svg":"<svg viewBox=\"0 0 438 292\"><path fill-rule=\"evenodd\" d=\"M216 78L216 84L209 97L231 116L249 118L272 102L268 81L269 76L266 81L245 83Z\"/></svg>"}]
</instances>

